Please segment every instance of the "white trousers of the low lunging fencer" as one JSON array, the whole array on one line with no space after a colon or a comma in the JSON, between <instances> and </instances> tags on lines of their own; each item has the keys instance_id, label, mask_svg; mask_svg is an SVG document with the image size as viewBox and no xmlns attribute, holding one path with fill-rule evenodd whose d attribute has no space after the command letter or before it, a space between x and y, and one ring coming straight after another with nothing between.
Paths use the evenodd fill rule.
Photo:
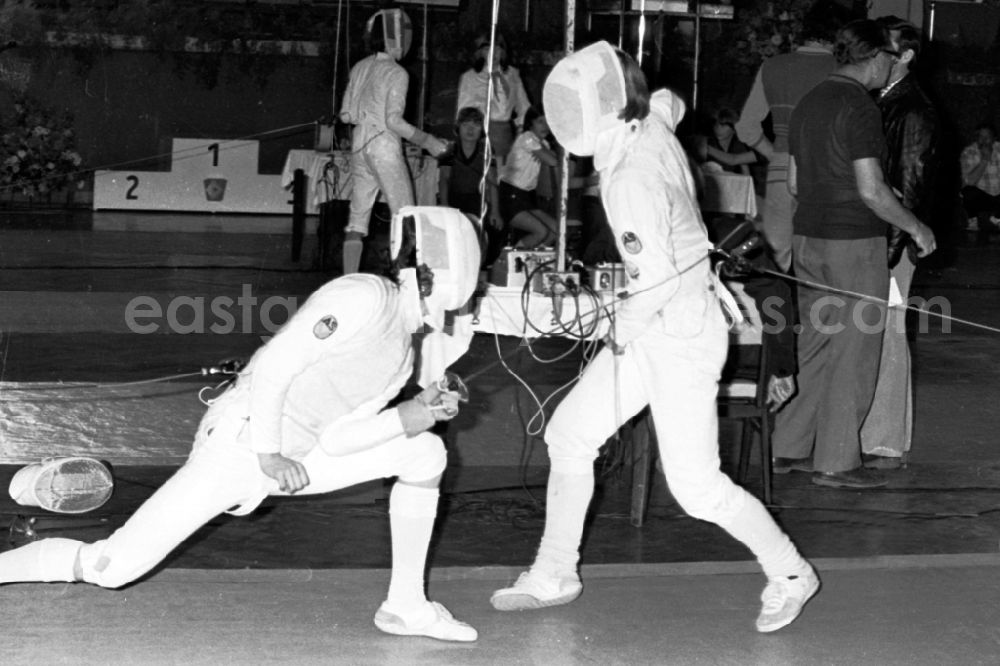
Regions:
<instances>
[{"instance_id":1,"label":"white trousers of the low lunging fencer","mask_svg":"<svg viewBox=\"0 0 1000 666\"><path fill-rule=\"evenodd\" d=\"M330 456L316 447L302 463L309 485L299 495L391 476L427 481L444 471L447 457L441 439L425 432L345 456ZM218 514L259 499L262 488L271 495L285 494L260 470L253 452L233 442L200 447L122 527L107 539L83 546L83 580L110 588L135 580Z\"/></svg>"}]
</instances>

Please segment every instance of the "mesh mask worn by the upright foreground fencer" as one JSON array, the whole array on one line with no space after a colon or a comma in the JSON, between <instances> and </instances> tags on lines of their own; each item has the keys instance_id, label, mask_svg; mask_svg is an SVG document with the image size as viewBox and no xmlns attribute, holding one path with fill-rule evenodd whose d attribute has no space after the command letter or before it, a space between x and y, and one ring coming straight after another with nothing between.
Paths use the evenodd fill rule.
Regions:
<instances>
[{"instance_id":1,"label":"mesh mask worn by the upright foreground fencer","mask_svg":"<svg viewBox=\"0 0 1000 666\"><path fill-rule=\"evenodd\" d=\"M622 124L625 103L621 61L603 41L556 63L542 88L549 128L574 155L594 154L597 135Z\"/></svg>"}]
</instances>

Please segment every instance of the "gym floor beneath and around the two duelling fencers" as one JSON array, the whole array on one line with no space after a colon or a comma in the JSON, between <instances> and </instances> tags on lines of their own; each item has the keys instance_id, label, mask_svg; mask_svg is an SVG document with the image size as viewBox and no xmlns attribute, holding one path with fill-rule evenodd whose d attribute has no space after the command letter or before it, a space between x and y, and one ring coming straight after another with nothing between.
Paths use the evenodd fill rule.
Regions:
<instances>
[{"instance_id":1,"label":"gym floor beneath and around the two duelling fencers","mask_svg":"<svg viewBox=\"0 0 1000 666\"><path fill-rule=\"evenodd\" d=\"M326 279L312 270L311 237L303 259L291 262L283 233L228 233L215 220L200 229L197 221L182 221L170 230L155 216L128 224L107 229L88 216L66 215L7 216L0 223L5 385L143 380L247 355L260 344L259 330L136 335L108 320L102 298L112 292L239 294L251 282L255 294L305 296ZM165 230L137 231L144 225ZM1000 326L998 258L995 242L962 242L950 269L918 272L913 293L947 299L955 317ZM771 509L816 563L823 588L795 624L774 635L753 630L763 577L749 553L715 526L686 517L662 482L654 485L645 523L634 527L629 468L613 455L600 461L583 549L584 595L537 613L493 611L490 591L512 581L537 546L546 472L540 441L508 441L523 417L504 402L513 395L512 380L497 372L471 386L491 396L483 414L449 433L453 467L428 583L432 598L477 626L477 644L393 638L371 625L389 564L385 490L375 483L353 494L269 500L246 518L220 517L124 590L7 586L0 592L0 626L9 639L0 658L10 664L996 663L997 339L961 323L945 331L936 320L915 335L913 451L906 468L890 473L888 487L831 490L805 474L775 478ZM463 369L481 367L492 345L477 337ZM529 384L543 386L558 385L552 375L565 370L530 361L518 368ZM192 390L199 386L184 381ZM44 424L23 418L25 402L32 398L9 390L0 402L4 487L26 456L52 453L45 437L25 434L44 431ZM87 516L54 517L29 515L2 497L0 519L10 526L3 547L42 536L93 540L120 524L176 469L190 439L185 419L147 416L149 439L171 436L152 453L102 456L115 469L108 504ZM178 420L185 422L172 423ZM723 429L727 469L733 435ZM143 442L135 444L143 450ZM759 469L751 469L748 489L760 493Z\"/></svg>"}]
</instances>

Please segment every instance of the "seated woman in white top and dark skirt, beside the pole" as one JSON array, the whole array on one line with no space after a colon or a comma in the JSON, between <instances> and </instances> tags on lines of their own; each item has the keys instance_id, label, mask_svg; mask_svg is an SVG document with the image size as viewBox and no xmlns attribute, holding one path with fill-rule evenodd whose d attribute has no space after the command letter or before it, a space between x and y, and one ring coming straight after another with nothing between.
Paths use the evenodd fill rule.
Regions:
<instances>
[{"instance_id":1,"label":"seated woman in white top and dark skirt, beside the pole","mask_svg":"<svg viewBox=\"0 0 1000 666\"><path fill-rule=\"evenodd\" d=\"M534 249L551 245L558 225L542 210L535 195L542 165L556 167L559 160L549 147L549 124L534 107L524 114L524 131L514 141L500 172L500 214L510 229L525 232L515 244Z\"/></svg>"}]
</instances>

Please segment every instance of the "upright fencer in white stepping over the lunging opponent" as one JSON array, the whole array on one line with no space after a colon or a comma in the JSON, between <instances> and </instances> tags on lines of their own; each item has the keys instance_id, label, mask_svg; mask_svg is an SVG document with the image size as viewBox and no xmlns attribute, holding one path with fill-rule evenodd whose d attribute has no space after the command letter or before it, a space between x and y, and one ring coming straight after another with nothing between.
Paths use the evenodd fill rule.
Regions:
<instances>
[{"instance_id":1,"label":"upright fencer in white stepping over the lunging opponent","mask_svg":"<svg viewBox=\"0 0 1000 666\"><path fill-rule=\"evenodd\" d=\"M707 261L711 245L694 180L673 133L684 104L665 90L650 97L635 62L606 42L560 61L543 96L559 142L594 156L630 295L614 313L605 347L546 430L551 468L535 561L491 602L498 610L525 610L580 595L577 565L598 448L649 405L670 491L689 515L718 524L756 555L768 579L757 628L780 629L819 580L764 506L719 469L724 287Z\"/></svg>"}]
</instances>

